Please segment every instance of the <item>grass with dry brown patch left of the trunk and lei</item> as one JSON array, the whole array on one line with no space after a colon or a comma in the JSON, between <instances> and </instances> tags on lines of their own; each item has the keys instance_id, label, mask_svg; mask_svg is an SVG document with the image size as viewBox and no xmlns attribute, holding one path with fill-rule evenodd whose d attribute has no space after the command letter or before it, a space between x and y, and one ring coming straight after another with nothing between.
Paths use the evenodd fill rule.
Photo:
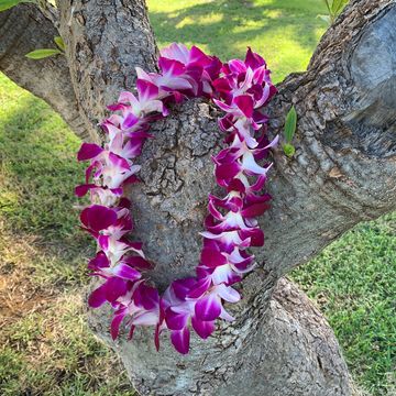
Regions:
<instances>
[{"instance_id":1,"label":"grass with dry brown patch left of the trunk and lei","mask_svg":"<svg viewBox=\"0 0 396 396\"><path fill-rule=\"evenodd\" d=\"M0 75L0 394L132 395L85 323L89 238L74 186L80 141Z\"/></svg>"}]
</instances>

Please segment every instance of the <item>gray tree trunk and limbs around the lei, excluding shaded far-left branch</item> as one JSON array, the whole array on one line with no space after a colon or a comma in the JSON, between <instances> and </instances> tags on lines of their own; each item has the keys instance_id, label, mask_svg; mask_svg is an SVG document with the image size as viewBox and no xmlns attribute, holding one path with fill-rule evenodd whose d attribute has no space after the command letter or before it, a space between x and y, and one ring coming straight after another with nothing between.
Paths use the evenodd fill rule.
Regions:
<instances>
[{"instance_id":1,"label":"gray tree trunk and limbs around the lei, excluding shaded far-left branch","mask_svg":"<svg viewBox=\"0 0 396 396\"><path fill-rule=\"evenodd\" d=\"M59 31L79 113L94 130L105 105L130 88L134 66L155 68L155 41L143 0L62 1ZM351 395L337 340L308 298L284 278L293 267L362 220L396 206L396 3L355 0L319 44L308 72L279 85L270 105L279 133L295 105L296 156L278 148L268 190L272 209L261 264L240 286L237 320L219 323L207 341L193 338L187 356L163 334L132 342L109 339L109 312L91 311L97 336L121 356L142 395ZM1 29L1 26L0 26ZM180 37L182 40L183 37ZM207 195L217 191L210 155L222 145L216 110L184 103L153 125L140 161L143 183L130 190L135 234L164 289L194 273L199 257Z\"/></svg>"}]
</instances>

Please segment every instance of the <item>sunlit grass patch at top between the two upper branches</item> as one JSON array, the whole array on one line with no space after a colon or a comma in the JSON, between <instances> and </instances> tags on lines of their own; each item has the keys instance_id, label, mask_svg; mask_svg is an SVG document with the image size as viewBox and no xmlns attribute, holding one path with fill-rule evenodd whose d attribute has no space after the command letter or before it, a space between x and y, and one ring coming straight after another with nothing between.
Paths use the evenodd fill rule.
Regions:
<instances>
[{"instance_id":1,"label":"sunlit grass patch at top between the two upper branches","mask_svg":"<svg viewBox=\"0 0 396 396\"><path fill-rule=\"evenodd\" d=\"M222 61L244 56L246 47L264 55L275 81L305 70L326 24L321 0L148 0L158 46L196 44Z\"/></svg>"}]
</instances>

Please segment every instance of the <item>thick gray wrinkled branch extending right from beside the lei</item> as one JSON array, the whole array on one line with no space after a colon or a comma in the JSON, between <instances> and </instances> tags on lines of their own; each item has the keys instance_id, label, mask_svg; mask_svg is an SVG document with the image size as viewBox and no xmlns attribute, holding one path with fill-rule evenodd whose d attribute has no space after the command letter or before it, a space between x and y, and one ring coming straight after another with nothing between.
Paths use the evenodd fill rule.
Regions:
<instances>
[{"instance_id":1,"label":"thick gray wrinkled branch extending right from beside the lei","mask_svg":"<svg viewBox=\"0 0 396 396\"><path fill-rule=\"evenodd\" d=\"M292 102L299 120L297 155L276 152L268 184L268 271L284 274L358 222L395 209L395 19L394 1L353 1L308 72L287 78L272 103L273 129L282 133Z\"/></svg>"}]
</instances>

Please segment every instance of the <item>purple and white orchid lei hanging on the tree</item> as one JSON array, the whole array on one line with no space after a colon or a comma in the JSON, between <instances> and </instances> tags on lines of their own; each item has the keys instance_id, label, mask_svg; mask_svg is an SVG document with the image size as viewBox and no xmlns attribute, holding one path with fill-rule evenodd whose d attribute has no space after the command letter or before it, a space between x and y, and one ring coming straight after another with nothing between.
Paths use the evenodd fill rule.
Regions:
<instances>
[{"instance_id":1,"label":"purple and white orchid lei hanging on the tree","mask_svg":"<svg viewBox=\"0 0 396 396\"><path fill-rule=\"evenodd\" d=\"M107 135L103 147L82 143L78 161L89 161L86 184L76 195L90 194L91 205L80 213L82 228L98 244L90 260L91 275L102 279L89 296L88 304L98 308L110 302L113 308L111 336L119 334L121 322L129 327L129 338L136 326L153 326L155 345L160 333L170 331L170 340L180 353L188 353L190 327L207 339L218 318L232 321L223 301L237 302L241 296L232 285L255 266L248 248L262 246L264 233L256 217L268 209L271 199L263 190L271 164L260 165L271 147L266 138L267 116L263 107L276 94L265 61L251 48L245 61L222 64L193 46L172 44L161 51L161 72L136 68L138 97L122 92L113 113L101 127ZM128 184L139 182L134 164L148 133L150 123L168 114L167 105L185 98L206 97L224 111L219 119L227 147L212 157L217 184L226 197L209 195L209 215L205 220L204 246L196 276L174 280L165 293L144 280L152 267L142 243L131 242L133 230L131 202L122 197ZM226 215L224 215L226 213Z\"/></svg>"}]
</instances>

